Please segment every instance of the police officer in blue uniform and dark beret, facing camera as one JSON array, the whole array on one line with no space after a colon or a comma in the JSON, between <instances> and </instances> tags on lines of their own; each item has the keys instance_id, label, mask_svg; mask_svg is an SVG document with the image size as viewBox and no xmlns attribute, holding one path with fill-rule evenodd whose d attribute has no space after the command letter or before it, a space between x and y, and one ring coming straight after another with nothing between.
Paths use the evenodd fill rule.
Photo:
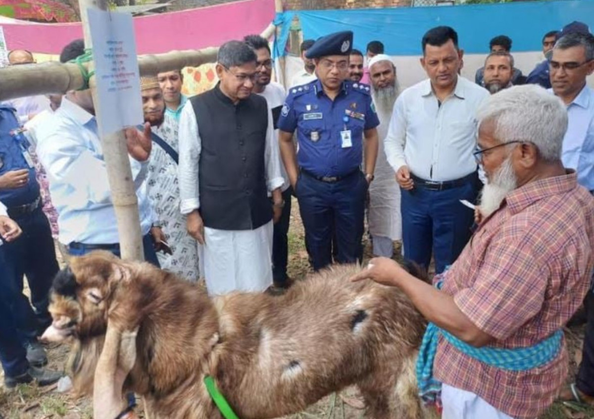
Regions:
<instances>
[{"instance_id":1,"label":"police officer in blue uniform and dark beret, facing camera","mask_svg":"<svg viewBox=\"0 0 594 419\"><path fill-rule=\"evenodd\" d=\"M278 122L280 152L315 270L332 263L333 235L335 262L362 257L365 197L374 178L380 121L370 87L347 80L352 44L353 33L342 31L321 37L308 49L318 80L290 89ZM361 171L364 152L366 173Z\"/></svg>"}]
</instances>

